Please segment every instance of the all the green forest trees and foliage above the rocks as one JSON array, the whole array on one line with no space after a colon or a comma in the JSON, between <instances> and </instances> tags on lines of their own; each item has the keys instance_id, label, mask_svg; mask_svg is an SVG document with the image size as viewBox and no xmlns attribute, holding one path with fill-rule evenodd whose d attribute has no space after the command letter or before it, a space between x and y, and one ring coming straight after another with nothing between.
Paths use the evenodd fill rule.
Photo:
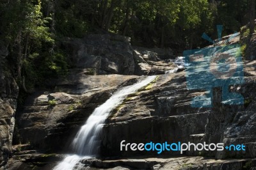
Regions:
<instances>
[{"instance_id":1,"label":"all the green forest trees and foliage above the rocks","mask_svg":"<svg viewBox=\"0 0 256 170\"><path fill-rule=\"evenodd\" d=\"M2 0L0 38L12 74L29 93L72 65L58 45L62 37L116 33L130 36L132 45L170 47L177 54L208 45L201 35L217 38L216 24L225 35L239 31L249 7L248 0Z\"/></svg>"}]
</instances>

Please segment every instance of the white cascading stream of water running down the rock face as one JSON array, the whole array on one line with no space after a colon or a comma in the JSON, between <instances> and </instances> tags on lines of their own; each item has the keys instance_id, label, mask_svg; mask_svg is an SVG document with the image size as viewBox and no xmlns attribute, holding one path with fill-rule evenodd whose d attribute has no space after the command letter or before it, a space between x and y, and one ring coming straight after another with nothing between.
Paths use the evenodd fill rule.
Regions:
<instances>
[{"instance_id":1,"label":"white cascading stream of water running down the rock face","mask_svg":"<svg viewBox=\"0 0 256 170\"><path fill-rule=\"evenodd\" d=\"M138 89L147 86L148 83L154 81L156 75L149 76L131 86L124 87L114 93L104 104L97 107L86 123L77 133L72 148L78 155L69 155L60 164L54 167L54 170L71 170L80 169L83 165L79 161L83 158L95 157L99 152L100 133L102 132L103 123L115 107L122 104L127 95L130 95Z\"/></svg>"}]
</instances>

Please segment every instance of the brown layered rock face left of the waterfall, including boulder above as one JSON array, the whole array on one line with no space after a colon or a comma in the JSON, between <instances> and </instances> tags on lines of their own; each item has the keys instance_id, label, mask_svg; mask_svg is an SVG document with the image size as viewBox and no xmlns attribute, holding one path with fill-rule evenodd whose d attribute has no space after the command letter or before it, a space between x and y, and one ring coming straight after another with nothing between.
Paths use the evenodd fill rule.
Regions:
<instances>
[{"instance_id":1,"label":"brown layered rock face left of the waterfall, including boulder above","mask_svg":"<svg viewBox=\"0 0 256 170\"><path fill-rule=\"evenodd\" d=\"M17 114L16 144L20 141L44 151L68 151L70 141L63 138L73 139L93 109L106 101L116 87L127 86L138 78L126 75L163 74L175 68L172 63L161 61L157 52L162 56L167 53L159 49L157 52L138 49L140 52L134 56L135 50L125 36L66 38L62 45L75 68L65 79L52 81L49 86L54 88L50 91L36 91L28 98L24 109ZM141 60L137 61L137 57ZM143 62L148 68L134 72L134 67Z\"/></svg>"}]
</instances>

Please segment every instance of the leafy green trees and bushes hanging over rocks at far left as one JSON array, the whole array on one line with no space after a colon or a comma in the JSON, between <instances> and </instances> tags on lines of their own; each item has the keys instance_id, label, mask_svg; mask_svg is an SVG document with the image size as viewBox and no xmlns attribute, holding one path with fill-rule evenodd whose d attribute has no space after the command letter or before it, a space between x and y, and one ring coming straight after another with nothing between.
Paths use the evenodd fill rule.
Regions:
<instances>
[{"instance_id":1,"label":"leafy green trees and bushes hanging over rocks at far left","mask_svg":"<svg viewBox=\"0 0 256 170\"><path fill-rule=\"evenodd\" d=\"M68 68L67 56L55 45L52 18L45 16L42 8L41 0L0 3L4 16L0 19L4 23L0 33L3 40L10 43L9 59L16 69L20 89L26 92L44 85L47 78L65 75Z\"/></svg>"}]
</instances>

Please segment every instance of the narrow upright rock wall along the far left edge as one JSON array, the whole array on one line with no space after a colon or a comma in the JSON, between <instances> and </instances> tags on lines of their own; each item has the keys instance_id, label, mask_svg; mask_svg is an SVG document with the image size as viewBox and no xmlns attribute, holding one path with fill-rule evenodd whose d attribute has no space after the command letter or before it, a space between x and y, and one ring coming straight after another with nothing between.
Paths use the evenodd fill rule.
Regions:
<instances>
[{"instance_id":1,"label":"narrow upright rock wall along the far left edge","mask_svg":"<svg viewBox=\"0 0 256 170\"><path fill-rule=\"evenodd\" d=\"M8 51L0 42L0 169L6 167L12 150L15 111L19 89L6 66Z\"/></svg>"}]
</instances>

